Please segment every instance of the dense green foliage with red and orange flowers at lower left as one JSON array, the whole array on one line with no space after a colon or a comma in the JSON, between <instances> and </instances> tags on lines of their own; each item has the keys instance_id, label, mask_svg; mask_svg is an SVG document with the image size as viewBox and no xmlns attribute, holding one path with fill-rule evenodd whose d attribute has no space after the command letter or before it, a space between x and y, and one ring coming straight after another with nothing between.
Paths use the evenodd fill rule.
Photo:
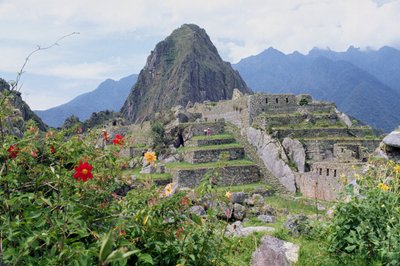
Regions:
<instances>
[{"instance_id":1,"label":"dense green foliage with red and orange flowers at lower left","mask_svg":"<svg viewBox=\"0 0 400 266\"><path fill-rule=\"evenodd\" d=\"M23 138L1 142L0 262L224 263L219 222L191 214L183 193L169 195L151 183L126 197L114 193L126 165L121 136L103 147L102 133L71 137L28 128Z\"/></svg>"}]
</instances>

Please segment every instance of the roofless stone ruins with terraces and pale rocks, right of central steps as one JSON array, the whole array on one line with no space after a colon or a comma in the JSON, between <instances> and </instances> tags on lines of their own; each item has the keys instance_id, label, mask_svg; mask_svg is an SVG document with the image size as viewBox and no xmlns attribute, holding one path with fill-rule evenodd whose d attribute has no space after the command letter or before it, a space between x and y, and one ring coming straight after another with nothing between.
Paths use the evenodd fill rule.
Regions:
<instances>
[{"instance_id":1,"label":"roofless stone ruins with terraces and pale rocks, right of central steps","mask_svg":"<svg viewBox=\"0 0 400 266\"><path fill-rule=\"evenodd\" d=\"M231 125L246 154L265 169L266 182L278 186L278 180L289 192L322 200L337 199L340 176L354 179L380 143L370 127L354 125L334 103L310 95L235 90L232 100L196 103L186 111L200 116L199 123Z\"/></svg>"}]
</instances>

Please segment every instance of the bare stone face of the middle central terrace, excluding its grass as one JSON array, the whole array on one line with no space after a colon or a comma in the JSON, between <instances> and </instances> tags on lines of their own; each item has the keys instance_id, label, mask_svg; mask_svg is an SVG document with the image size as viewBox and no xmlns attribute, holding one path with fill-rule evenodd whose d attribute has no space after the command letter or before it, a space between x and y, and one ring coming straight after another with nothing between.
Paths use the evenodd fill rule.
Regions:
<instances>
[{"instance_id":1,"label":"bare stone face of the middle central terrace, excluding its grass","mask_svg":"<svg viewBox=\"0 0 400 266\"><path fill-rule=\"evenodd\" d=\"M239 160L244 158L243 148L215 148L210 150L195 150L185 151L183 153L183 159L188 163L209 163L218 162L222 153L227 153L228 160Z\"/></svg>"}]
</instances>

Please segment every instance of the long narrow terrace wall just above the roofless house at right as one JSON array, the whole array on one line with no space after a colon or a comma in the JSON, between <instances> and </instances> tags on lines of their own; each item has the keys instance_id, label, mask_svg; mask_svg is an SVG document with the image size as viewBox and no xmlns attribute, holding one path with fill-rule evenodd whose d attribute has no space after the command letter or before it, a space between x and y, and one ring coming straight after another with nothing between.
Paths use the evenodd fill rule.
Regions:
<instances>
[{"instance_id":1,"label":"long narrow terrace wall just above the roofless house at right","mask_svg":"<svg viewBox=\"0 0 400 266\"><path fill-rule=\"evenodd\" d=\"M272 128L273 132L277 132L279 139L286 137L291 138L332 138L332 137L365 137L373 135L369 127L322 127L322 128Z\"/></svg>"}]
</instances>

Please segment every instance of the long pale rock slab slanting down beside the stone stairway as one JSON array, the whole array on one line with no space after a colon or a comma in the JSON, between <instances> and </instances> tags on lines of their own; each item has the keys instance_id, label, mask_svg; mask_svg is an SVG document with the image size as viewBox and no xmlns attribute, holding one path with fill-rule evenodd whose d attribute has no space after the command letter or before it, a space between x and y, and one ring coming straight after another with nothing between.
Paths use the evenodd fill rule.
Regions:
<instances>
[{"instance_id":1,"label":"long pale rock slab slanting down beside the stone stairway","mask_svg":"<svg viewBox=\"0 0 400 266\"><path fill-rule=\"evenodd\" d=\"M249 127L245 130L247 141L257 150L265 167L289 192L295 192L295 175L285 162L285 152L277 140L259 129Z\"/></svg>"}]
</instances>

